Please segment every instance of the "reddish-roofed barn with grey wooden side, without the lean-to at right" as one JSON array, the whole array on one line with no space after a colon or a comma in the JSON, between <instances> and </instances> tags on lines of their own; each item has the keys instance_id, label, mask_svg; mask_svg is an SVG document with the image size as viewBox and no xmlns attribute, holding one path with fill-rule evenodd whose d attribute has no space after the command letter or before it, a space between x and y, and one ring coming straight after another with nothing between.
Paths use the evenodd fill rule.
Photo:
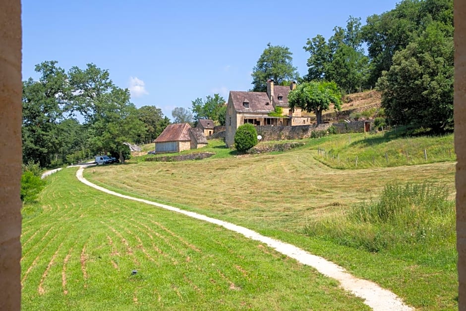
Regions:
<instances>
[{"instance_id":1,"label":"reddish-roofed barn with grey wooden side, without the lean-to at right","mask_svg":"<svg viewBox=\"0 0 466 311\"><path fill-rule=\"evenodd\" d=\"M155 152L169 153L191 149L190 128L187 123L168 125L155 140Z\"/></svg>"}]
</instances>

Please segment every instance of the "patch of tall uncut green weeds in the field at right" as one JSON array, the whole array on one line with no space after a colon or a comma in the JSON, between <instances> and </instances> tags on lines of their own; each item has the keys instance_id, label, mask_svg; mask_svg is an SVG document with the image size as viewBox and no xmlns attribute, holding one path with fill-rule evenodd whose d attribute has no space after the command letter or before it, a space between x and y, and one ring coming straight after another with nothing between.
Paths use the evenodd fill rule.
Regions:
<instances>
[{"instance_id":1,"label":"patch of tall uncut green weeds in the field at right","mask_svg":"<svg viewBox=\"0 0 466 311\"><path fill-rule=\"evenodd\" d=\"M441 185L389 185L377 200L358 204L339 218L310 223L305 232L371 252L435 247L455 236L454 202L448 195Z\"/></svg>"}]
</instances>

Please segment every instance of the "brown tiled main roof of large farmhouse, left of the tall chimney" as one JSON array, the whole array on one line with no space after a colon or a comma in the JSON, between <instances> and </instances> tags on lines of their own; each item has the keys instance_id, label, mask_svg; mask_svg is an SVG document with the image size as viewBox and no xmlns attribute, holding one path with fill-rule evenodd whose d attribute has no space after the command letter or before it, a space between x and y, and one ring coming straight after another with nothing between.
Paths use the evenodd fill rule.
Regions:
<instances>
[{"instance_id":1,"label":"brown tiled main roof of large farmhouse, left of the tall chimney","mask_svg":"<svg viewBox=\"0 0 466 311\"><path fill-rule=\"evenodd\" d=\"M239 112L269 113L274 110L265 92L230 91L230 98L234 109ZM249 108L243 105L244 102L247 102Z\"/></svg>"}]
</instances>

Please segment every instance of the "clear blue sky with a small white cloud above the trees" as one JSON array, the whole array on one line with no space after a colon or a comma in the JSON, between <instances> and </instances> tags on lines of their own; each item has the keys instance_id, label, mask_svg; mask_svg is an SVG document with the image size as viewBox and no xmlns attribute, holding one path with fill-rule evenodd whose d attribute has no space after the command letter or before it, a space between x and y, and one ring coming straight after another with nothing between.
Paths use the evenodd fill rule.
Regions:
<instances>
[{"instance_id":1,"label":"clear blue sky with a small white cloud above the trees","mask_svg":"<svg viewBox=\"0 0 466 311\"><path fill-rule=\"evenodd\" d=\"M23 80L34 66L58 61L68 70L93 62L129 88L136 107L175 107L252 87L251 72L267 46L293 53L307 72L307 38L329 38L349 17L380 14L395 0L184 1L23 0Z\"/></svg>"}]
</instances>

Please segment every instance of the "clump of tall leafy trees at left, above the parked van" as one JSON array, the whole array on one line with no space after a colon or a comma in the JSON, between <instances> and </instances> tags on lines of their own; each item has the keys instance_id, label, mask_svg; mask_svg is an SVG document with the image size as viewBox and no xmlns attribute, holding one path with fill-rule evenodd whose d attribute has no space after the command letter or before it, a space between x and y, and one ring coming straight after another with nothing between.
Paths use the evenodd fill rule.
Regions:
<instances>
[{"instance_id":1,"label":"clump of tall leafy trees at left, above the parked van","mask_svg":"<svg viewBox=\"0 0 466 311\"><path fill-rule=\"evenodd\" d=\"M117 87L108 70L90 63L65 72L56 61L35 69L39 80L23 82L24 163L59 166L101 153L119 154L124 161L123 142L146 135L129 91Z\"/></svg>"}]
</instances>

